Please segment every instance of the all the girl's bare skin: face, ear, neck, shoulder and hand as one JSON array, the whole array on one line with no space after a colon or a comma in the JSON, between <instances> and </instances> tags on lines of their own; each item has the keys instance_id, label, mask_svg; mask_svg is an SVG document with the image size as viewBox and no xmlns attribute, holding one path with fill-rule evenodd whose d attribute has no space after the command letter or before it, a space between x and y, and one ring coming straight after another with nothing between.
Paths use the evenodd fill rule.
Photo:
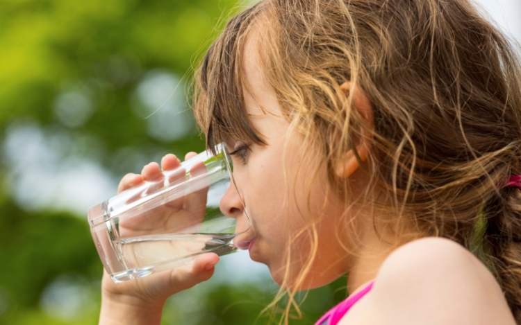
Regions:
<instances>
[{"instance_id":1,"label":"all the girl's bare skin: face, ear, neck, shoulder and hand","mask_svg":"<svg viewBox=\"0 0 521 325\"><path fill-rule=\"evenodd\" d=\"M289 238L297 237L310 221L315 222L317 255L299 289L323 286L347 272L349 292L356 293L375 280L372 291L342 318L342 325L515 324L492 274L468 250L450 240L423 238L410 243L401 243L399 238L382 240L374 231L370 215L363 207L356 207L349 218L356 218L360 243L347 247L353 254L345 252L337 238L349 234L336 236L338 216L345 204L333 191L326 191L329 184L324 163L306 160L310 152L301 148L301 135L288 132L290 124L258 68L257 53L256 44L248 42L243 55L249 84L245 103L254 128L268 144L254 146L226 141L230 152L249 146L233 156L233 176L239 191L229 188L220 206L224 214L237 218L239 231L246 231L235 245L249 247L251 258L265 263L277 283L282 283L287 271L290 281L286 286L291 287L305 265L305 261L295 256L308 256L310 247L299 238L290 245ZM347 93L352 90L350 86L346 82L342 89ZM356 109L365 116L367 125L372 125L369 100L359 89L354 91ZM370 152L367 143L358 143L358 149ZM194 154L188 157L191 155ZM365 156L362 159L367 159ZM346 152L344 158L334 166L336 174L363 188L367 179L358 161L352 152ZM161 161L161 168L172 170L178 164L179 159L167 155ZM295 182L284 182L283 170ZM310 184L308 175L314 170L318 174ZM158 164L144 166L141 175L126 175L119 191L144 180L158 179L162 177L160 172ZM307 188L311 188L309 200ZM251 229L241 200L254 225ZM324 201L328 204L323 209ZM318 215L322 217L317 218ZM288 247L293 258L286 268L281 253L287 253ZM203 254L191 265L119 284L104 274L99 324L160 324L167 297L209 279L218 261L215 254Z\"/></svg>"}]
</instances>

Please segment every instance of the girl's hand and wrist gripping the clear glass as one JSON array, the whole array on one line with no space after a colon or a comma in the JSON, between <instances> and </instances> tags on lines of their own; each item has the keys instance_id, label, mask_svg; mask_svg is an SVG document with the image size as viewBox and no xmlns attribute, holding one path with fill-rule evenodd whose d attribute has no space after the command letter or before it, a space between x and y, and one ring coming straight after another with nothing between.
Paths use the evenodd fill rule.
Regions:
<instances>
[{"instance_id":1,"label":"girl's hand and wrist gripping the clear glass","mask_svg":"<svg viewBox=\"0 0 521 325\"><path fill-rule=\"evenodd\" d=\"M185 158L189 159L194 155L194 152L190 152ZM174 155L166 155L161 161L165 171L179 168L179 164L181 162ZM201 168L204 168L204 165L194 166L190 173L197 173L197 170L200 172ZM185 173L180 174L184 179ZM142 182L163 184L163 177L158 164L151 163L144 166L141 175L129 174L123 177L118 192L139 186ZM173 177L174 179L169 179L169 182L181 180L179 174ZM200 190L193 193L191 197L187 195L187 197L174 200L169 204L164 204L144 213L142 218L146 218L147 225L150 225L146 229L137 227L138 224L142 225L142 222L129 222L120 225L119 231L121 234L124 232L125 236L140 236L144 234L144 231L158 230L163 231L164 234L165 229L190 226L192 224L190 218L192 220L196 218L199 221L204 218L204 212L202 215L196 213L198 209L195 207L200 207L203 197L206 200L206 191L208 190ZM193 209L190 209L190 207ZM175 218L173 218L174 216ZM201 254L195 258L192 264L124 283L114 283L104 271L100 324L154 324L154 322L160 324L163 304L167 297L210 279L218 261L217 254Z\"/></svg>"}]
</instances>

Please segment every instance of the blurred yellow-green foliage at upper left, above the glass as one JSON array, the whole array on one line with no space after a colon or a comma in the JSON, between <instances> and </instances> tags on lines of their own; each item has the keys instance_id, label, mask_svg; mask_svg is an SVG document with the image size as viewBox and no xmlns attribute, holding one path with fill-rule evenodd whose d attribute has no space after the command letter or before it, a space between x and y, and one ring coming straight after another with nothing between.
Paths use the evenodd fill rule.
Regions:
<instances>
[{"instance_id":1,"label":"blurred yellow-green foliage at upper left, above the glass","mask_svg":"<svg viewBox=\"0 0 521 325\"><path fill-rule=\"evenodd\" d=\"M168 144L151 138L132 112L133 91L152 69L189 77L220 18L235 7L225 0L1 1L0 128L22 115L56 123L56 96L79 82L94 93L95 110L74 131L88 132L108 152L201 148L197 137Z\"/></svg>"}]
</instances>

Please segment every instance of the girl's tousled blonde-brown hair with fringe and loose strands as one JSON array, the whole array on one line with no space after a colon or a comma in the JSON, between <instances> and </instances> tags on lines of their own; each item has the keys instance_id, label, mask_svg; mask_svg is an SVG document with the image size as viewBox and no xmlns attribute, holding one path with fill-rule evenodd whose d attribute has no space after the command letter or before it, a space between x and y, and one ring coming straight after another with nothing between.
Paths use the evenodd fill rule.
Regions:
<instances>
[{"instance_id":1,"label":"girl's tousled blonde-brown hair with fringe and loose strands","mask_svg":"<svg viewBox=\"0 0 521 325\"><path fill-rule=\"evenodd\" d=\"M521 173L521 67L508 39L467 0L263 0L229 21L197 71L194 112L210 148L226 136L265 144L242 96L254 25L283 114L324 154L345 201L333 161L370 132L368 188L396 212L379 222L395 236L412 225L414 236L478 244L521 324L521 191L504 186ZM374 128L345 81L369 98Z\"/></svg>"}]
</instances>

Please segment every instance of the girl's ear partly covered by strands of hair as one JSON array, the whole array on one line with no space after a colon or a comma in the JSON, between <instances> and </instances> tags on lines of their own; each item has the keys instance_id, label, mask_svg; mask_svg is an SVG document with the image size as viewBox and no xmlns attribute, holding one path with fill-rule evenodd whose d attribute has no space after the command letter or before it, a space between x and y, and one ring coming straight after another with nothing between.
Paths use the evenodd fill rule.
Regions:
<instances>
[{"instance_id":1,"label":"girl's ear partly covered by strands of hair","mask_svg":"<svg viewBox=\"0 0 521 325\"><path fill-rule=\"evenodd\" d=\"M358 143L356 143L358 157L361 159L361 161L365 161L371 148L371 132L368 130L372 130L374 128L374 117L371 103L369 98L367 98L361 89L356 86L352 88L351 82L344 82L342 85L340 85L340 89L342 89L342 91L344 91L346 94L349 94L350 91L353 91L354 107L362 116L363 123L365 124L365 128L361 128L362 137L360 137L360 139L358 139ZM345 152L341 159L336 162L335 173L338 177L347 178L352 175L352 173L354 173L358 167L360 167L360 163L354 153L354 150L349 150L348 152Z\"/></svg>"}]
</instances>

